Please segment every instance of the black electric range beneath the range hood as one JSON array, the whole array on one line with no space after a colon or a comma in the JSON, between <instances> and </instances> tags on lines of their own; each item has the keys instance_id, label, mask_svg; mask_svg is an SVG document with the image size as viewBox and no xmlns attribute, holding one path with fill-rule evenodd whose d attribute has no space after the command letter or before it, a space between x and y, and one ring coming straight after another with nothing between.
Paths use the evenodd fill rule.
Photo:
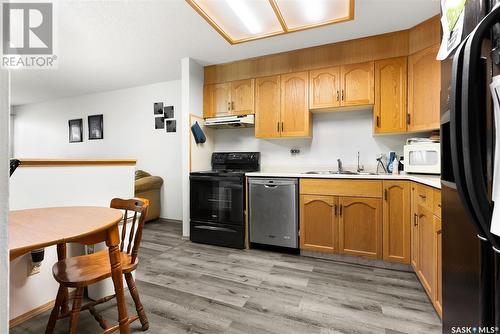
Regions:
<instances>
[{"instance_id":1,"label":"black electric range beneath the range hood","mask_svg":"<svg viewBox=\"0 0 500 334\"><path fill-rule=\"evenodd\" d=\"M245 173L259 170L259 152L216 152L212 170L190 174L191 241L245 247Z\"/></svg>"}]
</instances>

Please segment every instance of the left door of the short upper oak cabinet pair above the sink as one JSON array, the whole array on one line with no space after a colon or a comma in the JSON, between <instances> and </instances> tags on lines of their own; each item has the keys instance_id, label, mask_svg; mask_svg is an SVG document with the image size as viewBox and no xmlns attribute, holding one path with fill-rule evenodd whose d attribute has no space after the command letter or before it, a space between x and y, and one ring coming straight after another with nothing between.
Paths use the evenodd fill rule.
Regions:
<instances>
[{"instance_id":1,"label":"left door of the short upper oak cabinet pair above the sink","mask_svg":"<svg viewBox=\"0 0 500 334\"><path fill-rule=\"evenodd\" d=\"M309 72L309 109L340 106L340 67Z\"/></svg>"}]
</instances>

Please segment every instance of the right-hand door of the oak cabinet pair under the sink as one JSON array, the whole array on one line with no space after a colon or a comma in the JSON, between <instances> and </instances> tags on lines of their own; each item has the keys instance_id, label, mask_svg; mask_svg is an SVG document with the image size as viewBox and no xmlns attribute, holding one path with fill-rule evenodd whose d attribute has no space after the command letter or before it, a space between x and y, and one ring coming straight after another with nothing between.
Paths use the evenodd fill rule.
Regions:
<instances>
[{"instance_id":1,"label":"right-hand door of the oak cabinet pair under the sink","mask_svg":"<svg viewBox=\"0 0 500 334\"><path fill-rule=\"evenodd\" d=\"M378 198L339 198L340 252L382 258L382 201Z\"/></svg>"}]
</instances>

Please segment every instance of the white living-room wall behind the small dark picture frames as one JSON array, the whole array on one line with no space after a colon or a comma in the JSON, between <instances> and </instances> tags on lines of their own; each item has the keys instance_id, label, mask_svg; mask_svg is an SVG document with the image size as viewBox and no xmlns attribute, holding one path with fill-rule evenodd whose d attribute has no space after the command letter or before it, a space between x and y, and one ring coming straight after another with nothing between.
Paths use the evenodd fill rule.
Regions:
<instances>
[{"instance_id":1,"label":"white living-room wall behind the small dark picture frames","mask_svg":"<svg viewBox=\"0 0 500 334\"><path fill-rule=\"evenodd\" d=\"M155 130L153 103L173 105L181 113L181 82L15 107L14 156L23 158L134 158L137 168L161 176L161 217L182 219L181 128ZM87 116L104 114L104 139L88 140ZM83 118L82 143L68 142L68 120Z\"/></svg>"}]
</instances>

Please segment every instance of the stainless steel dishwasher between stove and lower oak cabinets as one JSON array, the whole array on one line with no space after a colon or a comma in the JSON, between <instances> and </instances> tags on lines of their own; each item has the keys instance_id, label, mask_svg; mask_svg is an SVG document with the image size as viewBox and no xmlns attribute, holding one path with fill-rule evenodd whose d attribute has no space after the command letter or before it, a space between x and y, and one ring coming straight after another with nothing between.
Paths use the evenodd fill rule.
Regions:
<instances>
[{"instance_id":1,"label":"stainless steel dishwasher between stove and lower oak cabinets","mask_svg":"<svg viewBox=\"0 0 500 334\"><path fill-rule=\"evenodd\" d=\"M298 248L298 182L249 178L250 242Z\"/></svg>"}]
</instances>

